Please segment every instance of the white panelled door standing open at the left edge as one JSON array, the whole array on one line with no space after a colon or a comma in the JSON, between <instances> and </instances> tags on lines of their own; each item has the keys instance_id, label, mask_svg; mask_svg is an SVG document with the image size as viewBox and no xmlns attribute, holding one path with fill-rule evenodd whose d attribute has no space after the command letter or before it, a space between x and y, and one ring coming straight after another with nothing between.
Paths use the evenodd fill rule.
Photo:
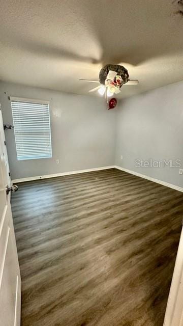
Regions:
<instances>
[{"instance_id":1,"label":"white panelled door standing open at the left edge","mask_svg":"<svg viewBox=\"0 0 183 326\"><path fill-rule=\"evenodd\" d=\"M0 105L0 326L20 326L21 279L12 220L8 157Z\"/></svg>"}]
</instances>

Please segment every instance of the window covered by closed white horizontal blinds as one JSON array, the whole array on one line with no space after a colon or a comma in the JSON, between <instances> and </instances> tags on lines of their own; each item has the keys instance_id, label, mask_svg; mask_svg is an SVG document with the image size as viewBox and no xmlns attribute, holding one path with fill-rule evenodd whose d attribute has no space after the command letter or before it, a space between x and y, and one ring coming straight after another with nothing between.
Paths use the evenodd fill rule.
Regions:
<instances>
[{"instance_id":1,"label":"window covered by closed white horizontal blinds","mask_svg":"<svg viewBox=\"0 0 183 326\"><path fill-rule=\"evenodd\" d=\"M52 157L49 102L10 97L17 159Z\"/></svg>"}]
</instances>

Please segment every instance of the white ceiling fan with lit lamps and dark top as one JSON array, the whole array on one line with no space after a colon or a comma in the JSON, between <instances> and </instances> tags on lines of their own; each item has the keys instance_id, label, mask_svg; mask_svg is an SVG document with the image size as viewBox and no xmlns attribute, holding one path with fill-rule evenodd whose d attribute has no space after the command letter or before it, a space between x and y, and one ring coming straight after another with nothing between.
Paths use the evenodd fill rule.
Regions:
<instances>
[{"instance_id":1,"label":"white ceiling fan with lit lamps and dark top","mask_svg":"<svg viewBox=\"0 0 183 326\"><path fill-rule=\"evenodd\" d=\"M88 83L97 83L99 86L89 90L89 92L98 91L99 94L105 97L110 97L113 94L120 93L120 88L123 85L137 85L137 79L129 79L128 70L121 65L105 65L99 73L98 80L79 79Z\"/></svg>"}]
</instances>

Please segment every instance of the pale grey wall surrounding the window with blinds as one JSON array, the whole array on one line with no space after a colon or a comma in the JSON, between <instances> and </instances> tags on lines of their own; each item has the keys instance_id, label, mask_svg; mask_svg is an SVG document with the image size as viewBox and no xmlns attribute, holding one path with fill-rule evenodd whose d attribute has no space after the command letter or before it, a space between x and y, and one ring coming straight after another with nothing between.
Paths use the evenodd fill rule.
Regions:
<instances>
[{"instance_id":1,"label":"pale grey wall surrounding the window with blinds","mask_svg":"<svg viewBox=\"0 0 183 326\"><path fill-rule=\"evenodd\" d=\"M50 101L53 155L18 161L14 131L6 130L12 179L113 165L116 112L106 110L104 99L0 83L3 119L9 124L13 124L9 96Z\"/></svg>"}]
</instances>

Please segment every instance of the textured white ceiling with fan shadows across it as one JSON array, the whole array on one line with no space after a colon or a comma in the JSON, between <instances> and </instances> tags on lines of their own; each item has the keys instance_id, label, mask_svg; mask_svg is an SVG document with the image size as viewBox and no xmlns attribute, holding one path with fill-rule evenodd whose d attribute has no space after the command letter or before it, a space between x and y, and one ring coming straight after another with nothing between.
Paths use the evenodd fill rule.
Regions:
<instances>
[{"instance_id":1,"label":"textured white ceiling with fan shadows across it","mask_svg":"<svg viewBox=\"0 0 183 326\"><path fill-rule=\"evenodd\" d=\"M138 86L131 96L183 79L183 16L173 0L0 0L0 79L88 94L107 63ZM92 94L90 94L92 95ZM98 95L96 92L93 95Z\"/></svg>"}]
</instances>

